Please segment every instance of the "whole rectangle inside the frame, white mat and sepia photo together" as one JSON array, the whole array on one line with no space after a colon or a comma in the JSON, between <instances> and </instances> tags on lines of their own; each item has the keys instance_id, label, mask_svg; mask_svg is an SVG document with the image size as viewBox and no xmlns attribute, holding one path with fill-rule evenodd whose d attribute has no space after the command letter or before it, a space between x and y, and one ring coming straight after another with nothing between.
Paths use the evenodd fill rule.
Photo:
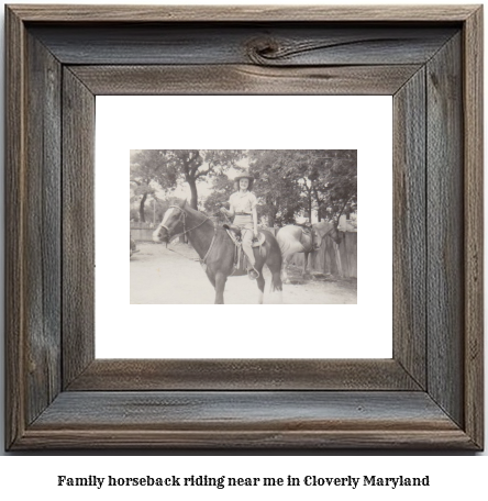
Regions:
<instances>
[{"instance_id":1,"label":"whole rectangle inside the frame, white mat and sepia photo together","mask_svg":"<svg viewBox=\"0 0 488 501\"><path fill-rule=\"evenodd\" d=\"M391 357L391 103L97 97L97 356Z\"/></svg>"}]
</instances>

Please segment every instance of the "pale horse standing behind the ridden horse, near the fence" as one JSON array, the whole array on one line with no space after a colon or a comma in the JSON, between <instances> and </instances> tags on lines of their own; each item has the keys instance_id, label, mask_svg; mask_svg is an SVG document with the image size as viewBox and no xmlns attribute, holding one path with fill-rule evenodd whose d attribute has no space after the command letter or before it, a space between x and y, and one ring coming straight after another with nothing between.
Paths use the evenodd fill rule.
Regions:
<instances>
[{"instance_id":1,"label":"pale horse standing behind the ridden horse, near the fence","mask_svg":"<svg viewBox=\"0 0 488 501\"><path fill-rule=\"evenodd\" d=\"M307 276L309 255L319 250L322 240L325 236L330 236L336 244L341 243L341 234L335 224L328 221L313 224L312 227L306 229L306 231L303 231L302 226L296 226L293 224L284 226L278 231L276 240L278 241L284 259L282 272L285 281L288 281L288 265L297 253L303 253L302 276Z\"/></svg>"}]
</instances>

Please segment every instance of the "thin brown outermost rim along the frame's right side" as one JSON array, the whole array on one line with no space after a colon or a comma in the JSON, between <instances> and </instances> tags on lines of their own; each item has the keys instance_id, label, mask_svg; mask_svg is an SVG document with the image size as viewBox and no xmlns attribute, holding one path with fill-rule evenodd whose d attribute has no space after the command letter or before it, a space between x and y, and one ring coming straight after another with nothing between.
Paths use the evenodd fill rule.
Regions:
<instances>
[{"instance_id":1,"label":"thin brown outermost rim along the frame's right side","mask_svg":"<svg viewBox=\"0 0 488 501\"><path fill-rule=\"evenodd\" d=\"M465 426L483 447L484 433L484 215L483 215L483 7L464 29L465 211Z\"/></svg>"}]
</instances>

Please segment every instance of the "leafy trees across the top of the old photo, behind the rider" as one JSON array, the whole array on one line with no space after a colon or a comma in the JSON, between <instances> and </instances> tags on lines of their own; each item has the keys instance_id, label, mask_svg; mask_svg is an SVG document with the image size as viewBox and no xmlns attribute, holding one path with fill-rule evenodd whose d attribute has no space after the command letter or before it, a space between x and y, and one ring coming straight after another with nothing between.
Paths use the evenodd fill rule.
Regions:
<instances>
[{"instance_id":1,"label":"leafy trees across the top of the old photo, behind the rider","mask_svg":"<svg viewBox=\"0 0 488 501\"><path fill-rule=\"evenodd\" d=\"M169 196L181 183L188 183L190 204L198 208L199 181L212 182L202 207L218 214L235 189L226 172L241 168L237 163L244 157L255 177L258 215L270 226L293 223L303 213L310 218L312 211L319 221L337 221L342 213L357 210L355 149L138 149L131 152L131 189L140 201L138 219L145 220L145 205L157 200L160 191ZM148 207L153 218L162 215L162 201L153 203Z\"/></svg>"}]
</instances>

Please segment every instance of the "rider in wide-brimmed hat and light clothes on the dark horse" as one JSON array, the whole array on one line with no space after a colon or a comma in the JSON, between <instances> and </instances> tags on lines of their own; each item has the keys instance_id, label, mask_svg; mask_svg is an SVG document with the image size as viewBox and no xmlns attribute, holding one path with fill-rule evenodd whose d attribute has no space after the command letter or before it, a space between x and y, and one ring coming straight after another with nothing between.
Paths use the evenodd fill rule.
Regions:
<instances>
[{"instance_id":1,"label":"rider in wide-brimmed hat and light clothes on the dark horse","mask_svg":"<svg viewBox=\"0 0 488 501\"><path fill-rule=\"evenodd\" d=\"M253 280L259 277L256 270L256 259L253 252L253 238L257 237L257 199L251 192L254 177L247 172L235 178L237 191L229 199L230 210L221 208L221 212L230 218L234 218L234 225L241 229L242 248L247 256L247 275Z\"/></svg>"}]
</instances>

